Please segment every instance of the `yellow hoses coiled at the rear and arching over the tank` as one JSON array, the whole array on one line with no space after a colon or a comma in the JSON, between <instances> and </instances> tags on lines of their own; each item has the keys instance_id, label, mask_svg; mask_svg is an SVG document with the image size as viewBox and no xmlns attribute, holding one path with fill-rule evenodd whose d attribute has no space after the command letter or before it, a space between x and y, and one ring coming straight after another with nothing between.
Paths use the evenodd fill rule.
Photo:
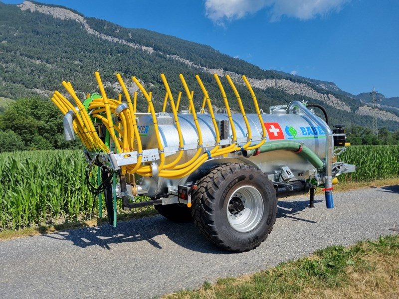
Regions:
<instances>
[{"instance_id":1,"label":"yellow hoses coiled at the rear and arching over the tank","mask_svg":"<svg viewBox=\"0 0 399 299\"><path fill-rule=\"evenodd\" d=\"M128 153L131 151L136 151L137 152L137 163L123 166L122 168L122 173L125 173L125 171L129 173L137 173L142 176L152 176L152 167L150 165L144 165L142 164L143 161L143 145L141 141L141 136L138 130L138 125L136 121L136 108L137 108L137 92L134 93L134 98L133 101L129 95L129 92L125 86L125 83L123 82L122 77L120 74L116 74L116 77L119 81L119 84L122 87L122 93L126 99L126 102L128 104L127 109L123 109L122 111L118 111L118 106L122 104L122 93L118 94L118 99L110 99L107 97L104 86L102 84L100 75L98 72L95 73L96 80L100 89L101 97L97 99L91 100L89 103L88 110L90 111L90 115L88 114L88 110L83 106L79 98L77 97L71 83L69 82L62 82L62 85L65 87L67 92L71 95L72 99L76 103L76 108L74 105L72 105L63 95L61 95L58 91L54 92L53 97L51 100L54 102L54 104L58 107L58 109L65 115L69 110L72 110L72 112L76 115L76 118L72 122L73 130L77 134L77 136L82 140L82 143L85 145L86 148L89 150L102 150L105 152L108 152L109 149L105 146L104 142L100 139L98 136L98 133L96 131L96 128L94 127L92 119L95 118L96 122L101 122L105 128L109 131L111 140L115 144L116 151L119 153ZM165 163L165 153L164 153L164 145L163 145L163 140L161 139L161 134L160 134L160 128L158 126L158 120L157 120L157 115L154 109L154 104L152 100L152 93L147 92L143 85L139 82L139 80L136 77L133 77L132 80L133 82L139 87L140 91L143 93L143 96L145 100L147 101L148 105L148 112L151 113L151 117L153 120L153 125L154 125L154 134L155 138L157 141L157 146L159 150L159 165L158 165L158 175L166 178L171 178L171 179L177 179L181 178L184 176L189 175L190 173L194 172L200 165L202 165L207 159L213 158L216 156L221 156L225 155L228 153L231 153L236 150L241 150L241 149L257 149L261 145L265 143L266 140L266 130L264 127L263 119L260 114L258 102L256 99L256 96L252 90L252 87L250 86L248 80L246 79L245 76L242 76L242 79L245 82L245 85L247 89L249 90L251 97L253 99L254 107L256 110L256 114L258 116L259 122L261 123L261 128L262 128L262 140L256 144L256 145L251 145L251 138L252 138L252 132L251 128L249 126L248 119L245 115L245 110L242 104L242 100L240 98L240 95L238 94L238 91L236 87L234 86L231 78L229 76L226 76L226 79L232 88L237 101L239 108L242 113L242 117L245 122L245 126L247 129L247 143L240 147L237 146L237 132L235 130L234 122L231 116L231 111L228 103L228 99L226 96L226 93L224 91L224 88L220 82L219 77L214 74L214 79L216 80L216 83L219 87L220 93L223 98L224 106L226 108L226 114L227 118L230 122L230 128L232 132L231 136L231 144L228 146L221 147L220 146L220 132L219 128L215 119L215 115L212 109L212 104L208 95L208 92L203 85L200 77L197 75L196 79L197 82L202 90L203 93L203 101L202 101L202 106L201 106L201 113L203 113L203 110L205 108L205 105L207 105L207 109L209 110L209 116L211 118L211 122L214 128L214 136L215 136L215 145L212 149L207 150L204 152L203 149L203 141L202 141L202 133L201 133L201 128L200 128L200 123L197 118L197 112L195 109L194 105L194 92L190 91L187 82L182 74L180 74L180 80L183 84L184 91L186 92L186 95L189 100L189 112L193 115L193 122L196 128L196 133L198 135L198 149L197 152L192 156L188 161L179 164L181 159L184 156L184 136L182 133L182 129L180 127L180 122L179 122L179 105L181 101L181 96L182 92L179 92L178 99L175 105L175 100L173 98L171 89L169 87L169 83L165 77L164 74L161 74L161 79L163 81L163 84L165 86L166 94L164 97L164 102L163 102L163 109L162 111L166 111L167 103L168 100L171 104L171 110L172 110L172 115L175 121L175 127L178 132L179 136L179 153L176 155L176 157L169 163ZM89 98L89 95L88 97ZM118 111L118 113L117 113ZM114 119L115 124L114 124ZM127 155L125 155L127 157Z\"/></svg>"}]
</instances>

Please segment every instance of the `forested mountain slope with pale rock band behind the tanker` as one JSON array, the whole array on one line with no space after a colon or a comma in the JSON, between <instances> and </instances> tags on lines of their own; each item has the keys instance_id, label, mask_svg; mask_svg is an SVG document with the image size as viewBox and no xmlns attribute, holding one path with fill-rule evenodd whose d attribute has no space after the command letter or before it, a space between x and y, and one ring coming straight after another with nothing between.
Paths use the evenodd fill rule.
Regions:
<instances>
[{"instance_id":1,"label":"forested mountain slope with pale rock band behind the tanker","mask_svg":"<svg viewBox=\"0 0 399 299\"><path fill-rule=\"evenodd\" d=\"M94 78L98 70L112 97L121 91L115 83L115 73L121 73L125 82L129 82L131 92L137 90L131 76L137 76L153 92L159 110L165 95L160 74L166 74L172 91L177 94L182 90L179 74L183 73L200 106L202 93L195 80L199 73L215 109L219 109L223 106L222 98L212 76L217 73L230 75L247 112L253 112L252 100L240 78L245 74L264 111L271 105L304 100L324 105L332 124L371 126L372 123L365 103L332 82L263 70L207 45L146 29L124 28L85 17L67 7L34 1L18 5L0 2L0 62L0 97L5 98L37 94L47 97L55 89L64 92L62 80L71 81L83 98L86 92L98 92ZM232 109L238 110L224 78L222 83ZM183 107L185 103L182 99ZM138 107L144 110L144 104L140 96ZM398 112L385 110L382 108L378 114L379 125L399 129Z\"/></svg>"}]
</instances>

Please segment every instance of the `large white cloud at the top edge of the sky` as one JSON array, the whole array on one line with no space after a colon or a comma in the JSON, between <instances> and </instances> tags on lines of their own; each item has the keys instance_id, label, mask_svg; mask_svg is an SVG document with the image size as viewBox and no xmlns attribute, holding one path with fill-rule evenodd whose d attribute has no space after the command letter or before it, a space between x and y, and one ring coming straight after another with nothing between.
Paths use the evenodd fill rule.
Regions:
<instances>
[{"instance_id":1,"label":"large white cloud at the top edge of the sky","mask_svg":"<svg viewBox=\"0 0 399 299\"><path fill-rule=\"evenodd\" d=\"M262 8L268 8L271 21L281 16L311 19L340 11L350 0L205 0L206 16L214 23L243 18Z\"/></svg>"}]
</instances>

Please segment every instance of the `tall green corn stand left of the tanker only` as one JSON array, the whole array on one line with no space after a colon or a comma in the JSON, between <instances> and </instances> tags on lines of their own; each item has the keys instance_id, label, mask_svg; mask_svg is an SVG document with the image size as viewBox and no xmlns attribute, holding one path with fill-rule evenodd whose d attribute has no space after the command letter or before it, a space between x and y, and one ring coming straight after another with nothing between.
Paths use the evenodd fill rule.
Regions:
<instances>
[{"instance_id":1,"label":"tall green corn stand left of the tanker only","mask_svg":"<svg viewBox=\"0 0 399 299\"><path fill-rule=\"evenodd\" d=\"M0 230L89 217L85 167L79 150L1 153Z\"/></svg>"}]
</instances>

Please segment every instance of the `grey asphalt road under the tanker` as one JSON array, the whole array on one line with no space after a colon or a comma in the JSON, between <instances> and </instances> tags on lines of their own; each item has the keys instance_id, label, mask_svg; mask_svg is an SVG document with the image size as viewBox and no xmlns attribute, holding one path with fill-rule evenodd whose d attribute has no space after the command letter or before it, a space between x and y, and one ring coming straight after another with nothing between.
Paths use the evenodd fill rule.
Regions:
<instances>
[{"instance_id":1,"label":"grey asphalt road under the tanker","mask_svg":"<svg viewBox=\"0 0 399 299\"><path fill-rule=\"evenodd\" d=\"M399 228L399 185L336 193L333 210L315 199L313 209L307 196L279 201L272 233L241 254L162 216L1 241L0 298L154 298Z\"/></svg>"}]
</instances>

